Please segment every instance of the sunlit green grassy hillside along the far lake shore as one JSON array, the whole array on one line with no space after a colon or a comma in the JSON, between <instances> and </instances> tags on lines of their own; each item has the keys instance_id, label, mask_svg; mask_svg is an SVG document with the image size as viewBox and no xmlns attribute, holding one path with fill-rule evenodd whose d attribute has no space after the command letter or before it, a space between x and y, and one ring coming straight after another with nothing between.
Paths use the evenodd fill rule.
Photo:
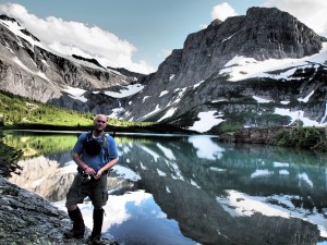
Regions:
<instances>
[{"instance_id":1,"label":"sunlit green grassy hillside along the far lake shore","mask_svg":"<svg viewBox=\"0 0 327 245\"><path fill-rule=\"evenodd\" d=\"M4 128L69 128L88 127L94 114L68 110L0 90L0 126ZM124 122L110 119L118 127L149 126L153 123Z\"/></svg>"}]
</instances>

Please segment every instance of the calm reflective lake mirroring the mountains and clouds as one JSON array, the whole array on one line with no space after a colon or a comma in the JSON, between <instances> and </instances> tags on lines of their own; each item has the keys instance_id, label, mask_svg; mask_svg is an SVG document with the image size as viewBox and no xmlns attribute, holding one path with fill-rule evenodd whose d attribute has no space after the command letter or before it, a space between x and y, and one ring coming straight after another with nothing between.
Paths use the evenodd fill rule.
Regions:
<instances>
[{"instance_id":1,"label":"calm reflective lake mirroring the mountains and clouds","mask_svg":"<svg viewBox=\"0 0 327 245\"><path fill-rule=\"evenodd\" d=\"M5 132L24 150L10 181L65 210L76 132ZM216 136L116 134L102 234L124 245L327 244L327 161ZM89 200L80 205L92 229Z\"/></svg>"}]
</instances>

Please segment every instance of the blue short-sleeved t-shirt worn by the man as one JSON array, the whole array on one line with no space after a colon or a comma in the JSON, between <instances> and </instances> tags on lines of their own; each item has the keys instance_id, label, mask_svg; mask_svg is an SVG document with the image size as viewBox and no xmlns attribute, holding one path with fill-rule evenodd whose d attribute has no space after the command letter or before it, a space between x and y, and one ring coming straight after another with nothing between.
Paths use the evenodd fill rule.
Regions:
<instances>
[{"instance_id":1,"label":"blue short-sleeved t-shirt worn by the man","mask_svg":"<svg viewBox=\"0 0 327 245\"><path fill-rule=\"evenodd\" d=\"M82 160L89 167L93 168L96 172L99 171L108 161L106 161L106 150L105 147L101 147L100 154L96 156L88 155L85 149L83 148L83 143L87 140L88 133L82 133L72 150L72 152L78 154L78 156L82 158ZM102 137L99 138L93 138L90 136L89 140L97 140L99 143L102 142ZM109 161L118 158L118 151L116 147L116 142L113 137L110 135L107 136L107 149L109 155Z\"/></svg>"}]
</instances>

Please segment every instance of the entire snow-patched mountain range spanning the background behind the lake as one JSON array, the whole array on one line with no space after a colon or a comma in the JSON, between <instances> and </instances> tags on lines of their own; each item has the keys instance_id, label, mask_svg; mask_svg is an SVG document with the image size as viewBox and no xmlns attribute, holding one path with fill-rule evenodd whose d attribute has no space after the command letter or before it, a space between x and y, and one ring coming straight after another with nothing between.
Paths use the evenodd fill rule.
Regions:
<instances>
[{"instance_id":1,"label":"entire snow-patched mountain range spanning the background behind the lake","mask_svg":"<svg viewBox=\"0 0 327 245\"><path fill-rule=\"evenodd\" d=\"M0 85L36 100L198 132L326 125L327 39L276 8L215 20L156 73L60 57L0 16Z\"/></svg>"}]
</instances>

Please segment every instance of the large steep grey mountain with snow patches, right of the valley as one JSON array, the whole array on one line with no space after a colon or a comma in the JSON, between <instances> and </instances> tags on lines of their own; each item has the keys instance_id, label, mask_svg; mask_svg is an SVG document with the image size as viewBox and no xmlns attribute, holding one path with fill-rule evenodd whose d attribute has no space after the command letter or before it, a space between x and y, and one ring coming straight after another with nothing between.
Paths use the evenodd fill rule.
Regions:
<instances>
[{"instance_id":1,"label":"large steep grey mountain with snow patches, right of the valley","mask_svg":"<svg viewBox=\"0 0 327 245\"><path fill-rule=\"evenodd\" d=\"M216 120L225 124L233 121L233 126L291 123L291 118L271 115L280 107L304 111L306 118L319 121L327 99L326 66L312 61L295 63L318 53L326 40L278 9L251 8L245 16L216 20L206 29L189 35L183 49L166 59L132 100L132 105L143 105L142 108L125 105L125 117L192 126L201 112L213 111ZM270 68L264 76L246 76L249 64L256 70L267 60L282 63L286 59L293 60L282 70ZM281 74L283 78L277 76ZM234 78L240 75L244 77ZM301 103L312 91L310 101Z\"/></svg>"}]
</instances>

